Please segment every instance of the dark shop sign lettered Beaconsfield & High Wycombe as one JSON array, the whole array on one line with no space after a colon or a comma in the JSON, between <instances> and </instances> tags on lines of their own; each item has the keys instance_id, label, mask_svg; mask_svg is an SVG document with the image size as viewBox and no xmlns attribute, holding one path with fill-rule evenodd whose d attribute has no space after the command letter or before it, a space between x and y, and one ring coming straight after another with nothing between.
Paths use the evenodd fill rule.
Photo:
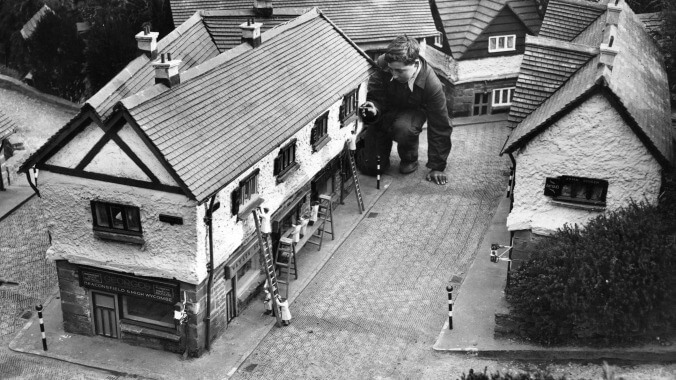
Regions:
<instances>
[{"instance_id":1,"label":"dark shop sign lettered Beaconsfield & High Wycombe","mask_svg":"<svg viewBox=\"0 0 676 380\"><path fill-rule=\"evenodd\" d=\"M171 304L179 301L178 284L147 280L101 269L80 268L79 274L82 287Z\"/></svg>"}]
</instances>

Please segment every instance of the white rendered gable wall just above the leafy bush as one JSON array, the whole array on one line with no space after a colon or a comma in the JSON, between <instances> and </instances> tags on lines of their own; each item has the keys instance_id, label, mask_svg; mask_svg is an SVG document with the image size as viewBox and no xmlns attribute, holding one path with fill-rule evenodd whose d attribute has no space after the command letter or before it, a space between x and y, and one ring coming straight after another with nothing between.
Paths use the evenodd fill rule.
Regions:
<instances>
[{"instance_id":1,"label":"white rendered gable wall just above the leafy bush","mask_svg":"<svg viewBox=\"0 0 676 380\"><path fill-rule=\"evenodd\" d=\"M661 167L602 95L595 95L537 135L514 155L514 207L510 231L551 234L564 223L584 225L598 215L561 207L543 195L545 177L570 175L608 181L606 210L632 199L656 203Z\"/></svg>"}]
</instances>

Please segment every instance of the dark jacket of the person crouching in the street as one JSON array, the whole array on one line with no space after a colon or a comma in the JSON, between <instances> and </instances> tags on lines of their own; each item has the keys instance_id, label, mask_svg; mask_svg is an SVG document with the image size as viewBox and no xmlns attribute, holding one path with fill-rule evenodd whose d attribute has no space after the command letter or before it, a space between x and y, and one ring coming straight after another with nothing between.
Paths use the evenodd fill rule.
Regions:
<instances>
[{"instance_id":1,"label":"dark jacket of the person crouching in the street","mask_svg":"<svg viewBox=\"0 0 676 380\"><path fill-rule=\"evenodd\" d=\"M448 117L446 96L441 81L434 70L423 58L420 58L420 72L413 84L413 92L408 83L392 79L387 63L381 56L378 70L369 80L366 100L373 102L378 109L374 123L388 123L394 115L404 109L423 111L427 116L427 167L432 170L446 169L446 159L451 152L451 133L453 126Z\"/></svg>"}]
</instances>

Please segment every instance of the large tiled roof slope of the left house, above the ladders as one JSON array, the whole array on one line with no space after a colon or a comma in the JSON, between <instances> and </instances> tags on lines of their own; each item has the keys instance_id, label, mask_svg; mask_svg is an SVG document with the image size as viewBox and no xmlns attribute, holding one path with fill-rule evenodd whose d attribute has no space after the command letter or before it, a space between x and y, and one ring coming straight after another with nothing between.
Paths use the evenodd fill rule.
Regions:
<instances>
[{"instance_id":1,"label":"large tiled roof slope of the left house, above the ladders","mask_svg":"<svg viewBox=\"0 0 676 380\"><path fill-rule=\"evenodd\" d=\"M199 201L368 79L371 61L316 9L119 103Z\"/></svg>"}]
</instances>

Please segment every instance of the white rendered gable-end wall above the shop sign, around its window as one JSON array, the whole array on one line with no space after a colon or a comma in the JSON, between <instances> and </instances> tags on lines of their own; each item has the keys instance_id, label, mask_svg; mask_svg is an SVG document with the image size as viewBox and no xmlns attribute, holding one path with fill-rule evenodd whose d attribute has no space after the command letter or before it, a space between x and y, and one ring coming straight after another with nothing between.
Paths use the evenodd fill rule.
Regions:
<instances>
[{"instance_id":1,"label":"white rendered gable-end wall above the shop sign, around its window","mask_svg":"<svg viewBox=\"0 0 676 380\"><path fill-rule=\"evenodd\" d=\"M194 249L196 202L186 196L47 171L40 172L39 189L52 236L47 258L189 283L200 280L197 268L206 261ZM92 200L139 207L145 244L95 237ZM160 222L159 214L179 216L183 225Z\"/></svg>"}]
</instances>

